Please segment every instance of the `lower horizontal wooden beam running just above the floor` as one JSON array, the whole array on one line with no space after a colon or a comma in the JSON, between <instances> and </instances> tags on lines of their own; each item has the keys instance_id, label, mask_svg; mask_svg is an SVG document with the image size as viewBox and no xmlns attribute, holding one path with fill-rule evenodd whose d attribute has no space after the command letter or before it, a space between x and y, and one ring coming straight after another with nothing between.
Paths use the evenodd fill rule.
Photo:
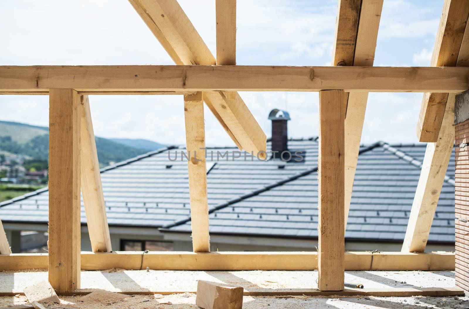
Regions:
<instances>
[{"instance_id":1,"label":"lower horizontal wooden beam running just above the floor","mask_svg":"<svg viewBox=\"0 0 469 309\"><path fill-rule=\"evenodd\" d=\"M142 257L143 256L143 257ZM346 252L345 270L454 270L454 253ZM315 270L317 252L82 252L82 270ZM47 268L47 253L0 255L0 271Z\"/></svg>"}]
</instances>

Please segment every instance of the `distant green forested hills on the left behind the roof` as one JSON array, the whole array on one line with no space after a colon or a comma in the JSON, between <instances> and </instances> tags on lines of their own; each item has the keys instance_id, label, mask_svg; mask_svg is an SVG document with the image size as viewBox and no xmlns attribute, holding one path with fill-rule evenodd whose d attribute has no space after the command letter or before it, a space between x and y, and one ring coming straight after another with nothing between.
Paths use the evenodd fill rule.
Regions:
<instances>
[{"instance_id":1,"label":"distant green forested hills on the left behind the roof","mask_svg":"<svg viewBox=\"0 0 469 309\"><path fill-rule=\"evenodd\" d=\"M110 162L124 161L151 150L131 147L102 137L95 137L95 140L101 167L109 165ZM47 160L49 156L49 128L0 121L0 153Z\"/></svg>"}]
</instances>

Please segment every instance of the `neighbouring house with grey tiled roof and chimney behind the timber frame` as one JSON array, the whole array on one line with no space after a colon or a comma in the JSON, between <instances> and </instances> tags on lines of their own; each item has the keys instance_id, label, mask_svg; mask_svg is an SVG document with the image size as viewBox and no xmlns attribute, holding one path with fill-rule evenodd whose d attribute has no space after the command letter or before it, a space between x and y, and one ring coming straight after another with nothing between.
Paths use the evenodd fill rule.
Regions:
<instances>
[{"instance_id":1,"label":"neighbouring house with grey tiled roof and chimney behind the timber frame","mask_svg":"<svg viewBox=\"0 0 469 309\"><path fill-rule=\"evenodd\" d=\"M302 162L244 161L243 153L234 158L236 148L207 149L213 251L316 250L318 139L286 140L286 120L272 121L268 150L302 151ZM101 170L113 250L192 250L184 150L162 148ZM214 160L217 151L229 158L211 162L212 151ZM425 144L361 147L346 250L401 249L424 153ZM454 153L446 175L428 251L454 250ZM47 230L47 189L1 203L0 219L19 250L20 231ZM82 250L91 250L83 204Z\"/></svg>"}]
</instances>

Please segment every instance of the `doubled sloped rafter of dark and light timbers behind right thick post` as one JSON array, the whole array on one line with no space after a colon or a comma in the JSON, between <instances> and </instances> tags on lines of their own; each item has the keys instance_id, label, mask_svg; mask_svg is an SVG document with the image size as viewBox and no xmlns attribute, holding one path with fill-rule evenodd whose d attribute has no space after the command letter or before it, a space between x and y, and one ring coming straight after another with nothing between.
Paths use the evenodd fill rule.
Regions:
<instances>
[{"instance_id":1,"label":"doubled sloped rafter of dark and light timbers behind right thick post","mask_svg":"<svg viewBox=\"0 0 469 309\"><path fill-rule=\"evenodd\" d=\"M333 66L373 66L383 0L340 0L333 48ZM355 178L368 92L346 94L345 224Z\"/></svg>"}]
</instances>

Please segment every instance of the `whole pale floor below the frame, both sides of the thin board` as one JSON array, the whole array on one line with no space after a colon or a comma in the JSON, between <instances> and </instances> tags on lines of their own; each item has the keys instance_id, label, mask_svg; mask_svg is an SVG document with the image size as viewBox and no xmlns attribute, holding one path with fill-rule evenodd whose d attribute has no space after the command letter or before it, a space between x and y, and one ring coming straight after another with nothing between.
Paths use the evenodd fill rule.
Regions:
<instances>
[{"instance_id":1,"label":"whole pale floor below the frame, both sides of the thin board","mask_svg":"<svg viewBox=\"0 0 469 309\"><path fill-rule=\"evenodd\" d=\"M317 271L83 271L80 291L106 289L115 292L160 291L165 295L132 295L121 302L83 303L78 296L59 296L60 304L46 308L198 308L195 305L197 280L225 282L244 287L245 291L306 289L317 287ZM454 272L447 271L347 271L345 280L361 283L365 288L454 287ZM23 288L47 280L44 270L0 272L0 292L21 293ZM167 293L167 295L166 295ZM181 293L181 294L170 294ZM386 309L462 309L469 308L466 297L309 297L244 296L243 308L386 308ZM171 302L172 304L162 304ZM25 296L0 297L0 308L27 304ZM13 307L14 308L14 307Z\"/></svg>"}]
</instances>

